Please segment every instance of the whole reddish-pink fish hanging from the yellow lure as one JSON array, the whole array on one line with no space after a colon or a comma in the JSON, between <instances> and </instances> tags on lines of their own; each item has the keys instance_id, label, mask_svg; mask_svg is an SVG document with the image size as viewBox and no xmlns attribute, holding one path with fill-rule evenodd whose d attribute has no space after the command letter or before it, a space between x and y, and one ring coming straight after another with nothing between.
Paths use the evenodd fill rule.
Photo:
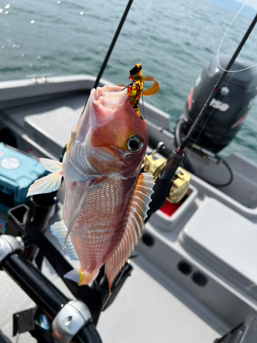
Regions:
<instances>
[{"instance_id":1,"label":"whole reddish-pink fish hanging from the yellow lure","mask_svg":"<svg viewBox=\"0 0 257 343\"><path fill-rule=\"evenodd\" d=\"M60 188L63 217L51 226L78 268L65 277L78 285L95 280L101 266L111 288L142 236L153 176L140 173L148 144L147 123L132 108L127 90L97 87L71 130L62 163L40 158L52 174L36 180L27 196Z\"/></svg>"}]
</instances>

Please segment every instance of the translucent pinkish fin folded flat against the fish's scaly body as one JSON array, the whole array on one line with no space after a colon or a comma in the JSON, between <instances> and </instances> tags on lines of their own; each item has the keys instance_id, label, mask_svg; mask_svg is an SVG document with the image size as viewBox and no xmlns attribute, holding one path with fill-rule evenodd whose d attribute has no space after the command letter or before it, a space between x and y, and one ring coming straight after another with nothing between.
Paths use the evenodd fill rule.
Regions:
<instances>
[{"instance_id":1,"label":"translucent pinkish fin folded flat against the fish's scaly body","mask_svg":"<svg viewBox=\"0 0 257 343\"><path fill-rule=\"evenodd\" d=\"M83 204L84 198L86 196L86 191L88 190L88 187L90 186L91 182L92 182L92 179L88 179L88 180L85 180L84 182L77 182L77 185L75 185L75 188L74 188L73 194L72 194L72 198L71 198L68 230L66 233L66 237L64 239L64 245L66 244L66 241L69 237L69 234L71 232L73 224L75 223L75 220L77 219L77 215L79 214L79 211L82 208L82 204ZM64 204L64 208L65 207L66 206Z\"/></svg>"}]
</instances>

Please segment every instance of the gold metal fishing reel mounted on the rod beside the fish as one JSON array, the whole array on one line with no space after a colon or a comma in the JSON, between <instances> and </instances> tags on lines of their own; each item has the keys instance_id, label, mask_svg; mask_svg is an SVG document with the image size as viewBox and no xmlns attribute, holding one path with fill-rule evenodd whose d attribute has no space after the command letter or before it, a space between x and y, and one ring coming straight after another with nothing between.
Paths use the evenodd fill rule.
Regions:
<instances>
[{"instance_id":1,"label":"gold metal fishing reel mounted on the rod beside the fish","mask_svg":"<svg viewBox=\"0 0 257 343\"><path fill-rule=\"evenodd\" d=\"M156 182L160 172L167 163L167 158L154 158L154 155L164 149L162 142L158 143L156 149L151 154L145 156L143 161L143 171L154 176L153 181ZM181 167L178 167L175 175L172 178L171 187L167 196L167 200L172 204L180 202L186 195L189 187L191 176Z\"/></svg>"}]
</instances>

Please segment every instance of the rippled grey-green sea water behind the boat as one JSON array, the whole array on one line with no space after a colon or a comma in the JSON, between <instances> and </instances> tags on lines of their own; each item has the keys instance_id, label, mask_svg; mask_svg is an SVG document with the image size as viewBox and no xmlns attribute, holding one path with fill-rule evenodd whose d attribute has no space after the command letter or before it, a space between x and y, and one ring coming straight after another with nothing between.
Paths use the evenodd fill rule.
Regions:
<instances>
[{"instance_id":1,"label":"rippled grey-green sea water behind the boat","mask_svg":"<svg viewBox=\"0 0 257 343\"><path fill-rule=\"evenodd\" d=\"M127 0L0 0L0 80L27 75L97 75ZM147 102L180 116L201 70L217 54L235 13L199 0L134 0L103 78L127 84L129 70L143 59L143 75L160 92ZM232 56L252 19L239 15L221 47ZM257 62L257 27L241 51ZM236 138L221 153L244 154L257 162L257 100Z\"/></svg>"}]
</instances>

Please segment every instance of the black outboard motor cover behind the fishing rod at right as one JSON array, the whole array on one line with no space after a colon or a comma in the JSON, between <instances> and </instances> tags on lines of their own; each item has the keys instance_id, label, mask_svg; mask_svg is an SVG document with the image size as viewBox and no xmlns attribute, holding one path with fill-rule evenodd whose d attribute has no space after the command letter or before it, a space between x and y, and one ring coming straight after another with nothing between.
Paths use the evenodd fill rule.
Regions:
<instances>
[{"instance_id":1,"label":"black outboard motor cover behind the fishing rod at right","mask_svg":"<svg viewBox=\"0 0 257 343\"><path fill-rule=\"evenodd\" d=\"M220 56L219 63L223 69L229 60L229 56ZM236 71L247 67L249 64L236 61L230 70ZM191 128L222 73L223 70L217 64L217 57L215 57L197 78L177 124L175 132L177 145L180 145L183 136ZM228 73L221 85L221 90L212 99L206 114L199 122L191 143L214 154L227 146L234 139L247 117L257 94L256 88L257 67L239 73ZM195 141L196 139L197 141Z\"/></svg>"}]
</instances>

